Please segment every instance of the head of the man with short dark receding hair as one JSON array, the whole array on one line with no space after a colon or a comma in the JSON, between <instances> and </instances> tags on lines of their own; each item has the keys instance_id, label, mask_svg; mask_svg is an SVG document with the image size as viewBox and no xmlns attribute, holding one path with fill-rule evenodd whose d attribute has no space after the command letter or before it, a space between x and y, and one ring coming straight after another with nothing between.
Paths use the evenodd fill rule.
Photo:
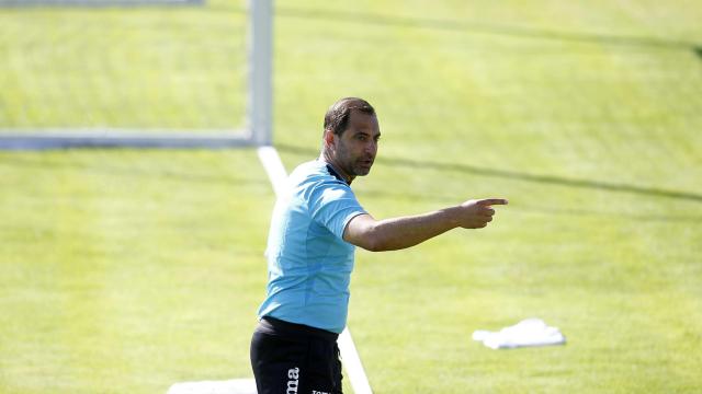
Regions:
<instances>
[{"instance_id":1,"label":"head of the man with short dark receding hair","mask_svg":"<svg viewBox=\"0 0 702 394\"><path fill-rule=\"evenodd\" d=\"M380 137L373 106L362 99L341 99L325 115L322 159L353 181L371 171Z\"/></svg>"}]
</instances>

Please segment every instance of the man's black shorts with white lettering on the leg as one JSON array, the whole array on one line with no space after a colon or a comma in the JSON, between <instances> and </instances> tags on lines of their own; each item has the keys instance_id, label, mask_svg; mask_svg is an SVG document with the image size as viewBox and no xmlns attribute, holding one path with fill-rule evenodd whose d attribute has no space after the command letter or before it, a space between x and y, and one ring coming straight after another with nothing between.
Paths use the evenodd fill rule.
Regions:
<instances>
[{"instance_id":1,"label":"man's black shorts with white lettering on the leg","mask_svg":"<svg viewBox=\"0 0 702 394\"><path fill-rule=\"evenodd\" d=\"M263 317L251 338L258 394L340 394L338 334Z\"/></svg>"}]
</instances>

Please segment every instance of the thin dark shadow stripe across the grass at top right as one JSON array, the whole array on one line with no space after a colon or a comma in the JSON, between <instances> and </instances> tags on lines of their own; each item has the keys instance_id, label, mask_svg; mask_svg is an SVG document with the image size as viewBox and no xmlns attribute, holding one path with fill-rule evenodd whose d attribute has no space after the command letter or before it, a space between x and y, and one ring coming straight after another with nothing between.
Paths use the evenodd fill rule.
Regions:
<instances>
[{"instance_id":1,"label":"thin dark shadow stripe across the grass at top right","mask_svg":"<svg viewBox=\"0 0 702 394\"><path fill-rule=\"evenodd\" d=\"M366 12L349 12L349 11L335 11L335 10L313 10L313 9L298 9L298 8L285 8L278 7L275 14L287 18L299 18L308 20L321 20L321 21L335 21L342 23L354 23L362 25L380 25L380 26L400 26L400 27L415 27L415 28L432 28L441 31L460 31L460 32L473 32L494 34L502 36L514 36L519 38L540 38L540 39L556 39L556 40L569 40L579 43L597 43L605 45L619 45L619 46L637 46L637 47L654 47L663 49L684 49L692 50L700 56L700 46L698 43L661 39L654 37L638 37L638 36L618 36L609 34L595 34L595 33L579 33L579 32L564 32L564 31L550 31L522 26L510 25L497 25L488 23L477 22L463 22L458 20L439 20L427 18L412 18L412 16L397 16L397 15L383 15Z\"/></svg>"}]
</instances>

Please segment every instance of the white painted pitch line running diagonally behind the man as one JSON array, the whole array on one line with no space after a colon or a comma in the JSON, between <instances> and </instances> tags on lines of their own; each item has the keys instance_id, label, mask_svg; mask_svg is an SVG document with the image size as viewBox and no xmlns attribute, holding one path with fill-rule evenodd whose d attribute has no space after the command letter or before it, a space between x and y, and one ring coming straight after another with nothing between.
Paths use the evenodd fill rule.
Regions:
<instances>
[{"instance_id":1,"label":"white painted pitch line running diagonally behind the man","mask_svg":"<svg viewBox=\"0 0 702 394\"><path fill-rule=\"evenodd\" d=\"M271 179L273 190L275 195L280 195L282 192L285 179L287 178L287 172L281 161L281 157L273 147L260 147L258 149L259 159L268 173L268 177ZM372 394L371 384L369 378L365 375L365 370L361 363L361 358L355 349L353 339L351 338L351 332L349 327L346 327L341 335L339 335L339 351L341 352L341 359L343 360L343 368L347 370L351 387L355 394Z\"/></svg>"}]
</instances>

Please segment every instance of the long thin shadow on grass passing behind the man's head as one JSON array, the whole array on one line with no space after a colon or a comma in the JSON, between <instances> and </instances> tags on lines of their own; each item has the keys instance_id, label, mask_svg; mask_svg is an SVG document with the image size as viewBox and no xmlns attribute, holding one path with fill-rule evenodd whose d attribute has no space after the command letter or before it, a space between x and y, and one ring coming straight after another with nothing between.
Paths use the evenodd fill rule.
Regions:
<instances>
[{"instance_id":1,"label":"long thin shadow on grass passing behind the man's head","mask_svg":"<svg viewBox=\"0 0 702 394\"><path fill-rule=\"evenodd\" d=\"M279 144L278 149L282 152L304 154L308 157L316 157L317 151L314 149L299 148L286 144ZM492 170L484 169L475 165L458 164L458 163L440 163L428 160L411 160L401 158L377 158L376 162L383 165L405 167L411 170L437 170L446 172L457 172L463 174L473 174L479 176L499 177L506 179L532 182L540 184L550 184L566 187L577 187L585 189L599 189L614 193L630 193L650 197L672 198L680 200L689 200L695 202L702 202L702 195L695 193L668 190L661 188L643 187L636 185L607 183L601 181L588 181L588 179L570 179L562 176L553 175L534 175L523 172L506 171L506 170Z\"/></svg>"}]
</instances>

